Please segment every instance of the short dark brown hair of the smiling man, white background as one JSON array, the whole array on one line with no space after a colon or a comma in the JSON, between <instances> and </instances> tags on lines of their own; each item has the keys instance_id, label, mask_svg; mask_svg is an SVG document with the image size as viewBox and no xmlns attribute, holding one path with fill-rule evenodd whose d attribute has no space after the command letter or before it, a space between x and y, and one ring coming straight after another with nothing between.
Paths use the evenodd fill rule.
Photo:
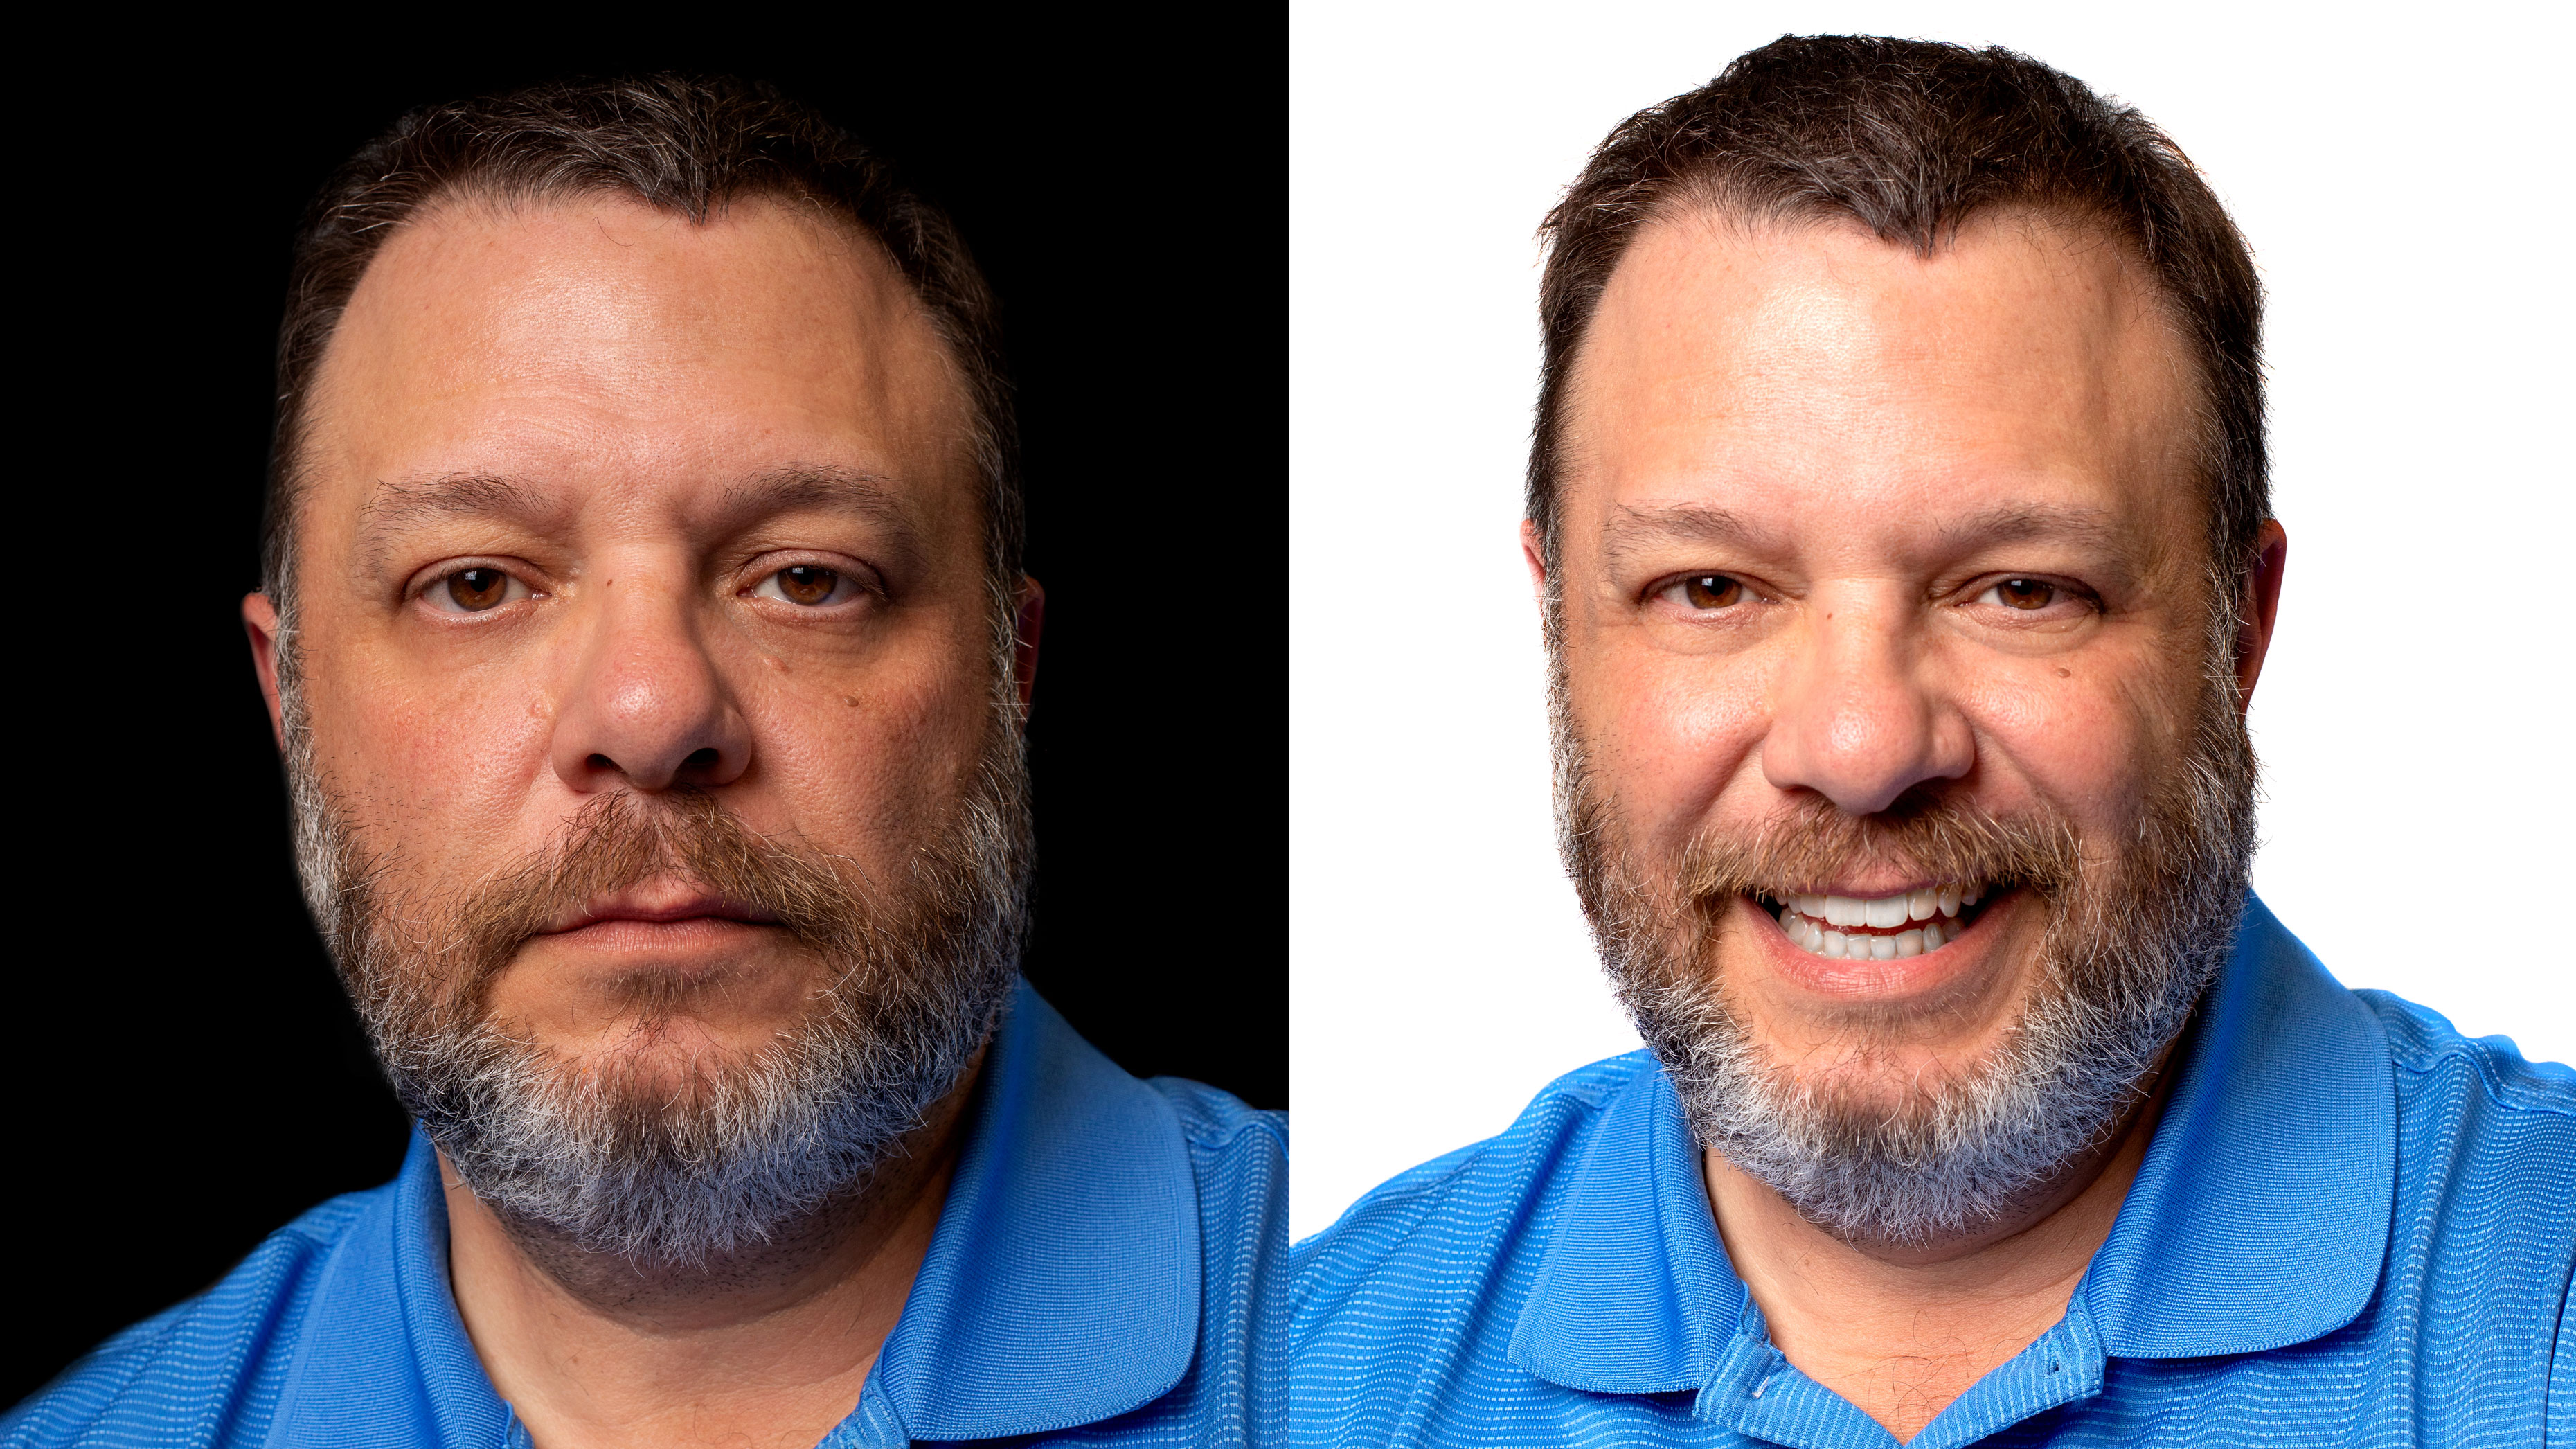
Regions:
<instances>
[{"instance_id":1,"label":"short dark brown hair of the smiling man, white background","mask_svg":"<svg viewBox=\"0 0 2576 1449\"><path fill-rule=\"evenodd\" d=\"M1687 206L1762 222L1850 217L1932 253L1978 211L2102 227L2154 273L2202 376L2210 557L2251 565L2272 516L2262 284L2190 157L2136 108L2030 57L1880 36L1783 36L1628 116L1548 211L1528 516L1553 565L1577 351L1620 255Z\"/></svg>"}]
</instances>

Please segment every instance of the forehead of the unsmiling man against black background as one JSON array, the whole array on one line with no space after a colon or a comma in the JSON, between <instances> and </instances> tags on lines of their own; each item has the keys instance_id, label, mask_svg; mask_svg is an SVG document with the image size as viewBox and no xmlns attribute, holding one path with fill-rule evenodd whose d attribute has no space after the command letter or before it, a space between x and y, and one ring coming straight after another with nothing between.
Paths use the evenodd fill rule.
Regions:
<instances>
[{"instance_id":1,"label":"forehead of the unsmiling man against black background","mask_svg":"<svg viewBox=\"0 0 2576 1449\"><path fill-rule=\"evenodd\" d=\"M307 410L307 487L492 474L672 490L775 467L948 485L963 394L894 263L773 199L446 201L368 263Z\"/></svg>"}]
</instances>

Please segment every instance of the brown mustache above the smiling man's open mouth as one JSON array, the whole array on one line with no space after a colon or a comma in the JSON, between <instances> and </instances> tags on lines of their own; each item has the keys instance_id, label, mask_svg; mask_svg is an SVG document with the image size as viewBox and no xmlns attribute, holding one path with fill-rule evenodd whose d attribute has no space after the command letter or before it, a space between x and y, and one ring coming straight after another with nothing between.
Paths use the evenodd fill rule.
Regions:
<instances>
[{"instance_id":1,"label":"brown mustache above the smiling man's open mouth","mask_svg":"<svg viewBox=\"0 0 2576 1449\"><path fill-rule=\"evenodd\" d=\"M1690 900L1811 890L1862 869L1893 869L1935 882L1989 882L2063 897L2084 856L2076 828L2053 807L1996 815L1965 799L1906 792L1878 815L1847 815L1832 799L1798 799L1752 830L1695 835L1682 848L1680 887Z\"/></svg>"}]
</instances>

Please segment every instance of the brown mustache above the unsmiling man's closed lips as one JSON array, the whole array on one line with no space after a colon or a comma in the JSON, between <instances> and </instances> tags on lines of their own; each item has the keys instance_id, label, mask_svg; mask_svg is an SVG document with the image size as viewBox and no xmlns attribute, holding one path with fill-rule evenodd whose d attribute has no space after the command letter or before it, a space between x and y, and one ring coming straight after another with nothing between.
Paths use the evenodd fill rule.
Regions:
<instances>
[{"instance_id":1,"label":"brown mustache above the unsmiling man's closed lips","mask_svg":"<svg viewBox=\"0 0 2576 1449\"><path fill-rule=\"evenodd\" d=\"M824 959L860 959L873 933L866 897L829 856L760 835L711 794L680 789L582 804L546 848L443 908L433 931L415 923L412 949L446 957L451 1008L479 1016L528 938L600 897L672 877L775 920Z\"/></svg>"}]
</instances>

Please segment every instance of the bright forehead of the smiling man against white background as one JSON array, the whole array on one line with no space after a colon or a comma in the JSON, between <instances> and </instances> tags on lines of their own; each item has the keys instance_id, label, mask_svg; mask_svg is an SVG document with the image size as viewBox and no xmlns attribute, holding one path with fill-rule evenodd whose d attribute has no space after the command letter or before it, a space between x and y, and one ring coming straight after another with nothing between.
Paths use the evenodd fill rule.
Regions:
<instances>
[{"instance_id":1,"label":"bright forehead of the smiling man against white background","mask_svg":"<svg viewBox=\"0 0 2576 1449\"><path fill-rule=\"evenodd\" d=\"M1571 376L1566 508L2197 503L2192 366L2128 250L2030 214L1937 253L1685 214L1615 268Z\"/></svg>"}]
</instances>

